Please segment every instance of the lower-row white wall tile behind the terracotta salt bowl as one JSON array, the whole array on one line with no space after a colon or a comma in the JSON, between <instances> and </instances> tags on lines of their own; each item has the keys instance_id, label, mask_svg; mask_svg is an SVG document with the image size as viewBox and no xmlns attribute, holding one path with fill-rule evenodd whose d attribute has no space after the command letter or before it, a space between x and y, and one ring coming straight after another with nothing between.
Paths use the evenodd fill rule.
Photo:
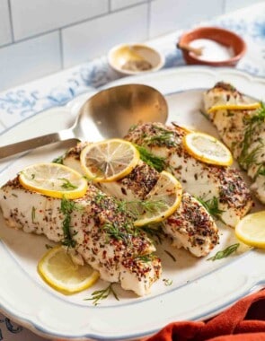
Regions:
<instances>
[{"instance_id":1,"label":"lower-row white wall tile behind the terracotta salt bowl","mask_svg":"<svg viewBox=\"0 0 265 341\"><path fill-rule=\"evenodd\" d=\"M223 13L222 0L155 0L150 9L150 37L184 28Z\"/></svg>"}]
</instances>

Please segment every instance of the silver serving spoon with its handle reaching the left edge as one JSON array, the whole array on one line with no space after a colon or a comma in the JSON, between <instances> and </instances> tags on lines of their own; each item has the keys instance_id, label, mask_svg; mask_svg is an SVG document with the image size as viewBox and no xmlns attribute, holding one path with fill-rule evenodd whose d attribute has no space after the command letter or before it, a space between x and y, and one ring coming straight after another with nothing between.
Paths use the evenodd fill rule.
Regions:
<instances>
[{"instance_id":1,"label":"silver serving spoon with its handle reaching the left edge","mask_svg":"<svg viewBox=\"0 0 265 341\"><path fill-rule=\"evenodd\" d=\"M80 109L72 127L57 133L0 147L0 159L59 141L99 141L123 137L129 127L167 119L168 107L162 95L142 84L114 86L96 93ZM52 118L51 118L52 119Z\"/></svg>"}]
</instances>

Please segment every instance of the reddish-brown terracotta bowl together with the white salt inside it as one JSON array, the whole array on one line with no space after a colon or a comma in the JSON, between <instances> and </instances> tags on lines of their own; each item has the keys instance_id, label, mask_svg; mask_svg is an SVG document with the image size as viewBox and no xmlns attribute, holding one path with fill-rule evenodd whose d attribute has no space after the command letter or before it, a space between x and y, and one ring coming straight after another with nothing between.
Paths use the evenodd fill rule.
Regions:
<instances>
[{"instance_id":1,"label":"reddish-brown terracotta bowl together with the white salt inside it","mask_svg":"<svg viewBox=\"0 0 265 341\"><path fill-rule=\"evenodd\" d=\"M184 33L178 42L187 64L208 66L235 66L243 57L246 45L232 31L218 27L200 27ZM199 48L201 55L186 48Z\"/></svg>"}]
</instances>

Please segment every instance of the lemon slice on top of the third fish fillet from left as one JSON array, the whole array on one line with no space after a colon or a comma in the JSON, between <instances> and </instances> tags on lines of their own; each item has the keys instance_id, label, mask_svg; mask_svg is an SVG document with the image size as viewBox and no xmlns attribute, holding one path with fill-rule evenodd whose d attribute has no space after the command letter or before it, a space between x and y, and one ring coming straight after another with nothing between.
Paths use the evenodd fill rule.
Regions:
<instances>
[{"instance_id":1,"label":"lemon slice on top of the third fish fillet from left","mask_svg":"<svg viewBox=\"0 0 265 341\"><path fill-rule=\"evenodd\" d=\"M183 137L183 144L187 152L201 162L219 166L233 163L232 153L214 136L193 132Z\"/></svg>"}]
</instances>

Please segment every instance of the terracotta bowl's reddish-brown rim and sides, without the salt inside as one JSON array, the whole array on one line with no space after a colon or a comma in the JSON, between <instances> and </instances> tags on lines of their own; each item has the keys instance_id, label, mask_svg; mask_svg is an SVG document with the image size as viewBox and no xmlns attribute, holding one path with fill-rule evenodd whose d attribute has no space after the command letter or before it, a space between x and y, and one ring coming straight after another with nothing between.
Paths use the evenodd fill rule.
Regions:
<instances>
[{"instance_id":1,"label":"terracotta bowl's reddish-brown rim and sides, without the salt inside","mask_svg":"<svg viewBox=\"0 0 265 341\"><path fill-rule=\"evenodd\" d=\"M181 48L181 46L189 46L190 42L195 39L214 40L226 48L232 48L234 56L221 61L204 60L203 56L197 57L194 53ZM181 36L178 47L182 49L182 54L187 64L205 66L235 66L246 52L246 44L240 36L232 31L218 27L200 27L186 32Z\"/></svg>"}]
</instances>

